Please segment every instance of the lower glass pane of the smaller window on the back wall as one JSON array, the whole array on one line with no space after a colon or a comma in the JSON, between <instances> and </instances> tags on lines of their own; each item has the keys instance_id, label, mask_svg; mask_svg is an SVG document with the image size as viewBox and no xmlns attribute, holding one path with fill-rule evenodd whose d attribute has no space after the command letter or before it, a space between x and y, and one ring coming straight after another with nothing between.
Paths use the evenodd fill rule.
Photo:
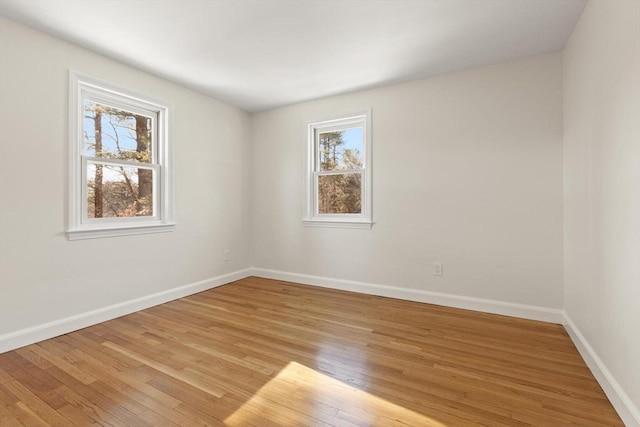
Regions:
<instances>
[{"instance_id":1,"label":"lower glass pane of the smaller window on the back wall","mask_svg":"<svg viewBox=\"0 0 640 427\"><path fill-rule=\"evenodd\" d=\"M359 173L318 176L318 213L362 212L362 175Z\"/></svg>"}]
</instances>

